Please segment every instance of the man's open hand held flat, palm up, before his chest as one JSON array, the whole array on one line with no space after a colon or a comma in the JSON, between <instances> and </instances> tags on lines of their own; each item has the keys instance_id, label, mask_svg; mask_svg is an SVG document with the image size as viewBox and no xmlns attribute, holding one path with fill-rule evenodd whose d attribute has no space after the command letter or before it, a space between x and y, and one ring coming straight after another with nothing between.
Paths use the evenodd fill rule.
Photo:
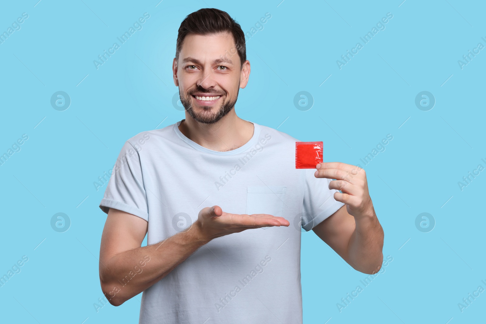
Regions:
<instances>
[{"instance_id":1,"label":"man's open hand held flat, palm up, before his chest","mask_svg":"<svg viewBox=\"0 0 486 324\"><path fill-rule=\"evenodd\" d=\"M269 214L231 214L224 212L220 206L201 209L197 221L192 224L200 231L206 241L246 229L268 226L289 226L290 222L283 217Z\"/></svg>"}]
</instances>

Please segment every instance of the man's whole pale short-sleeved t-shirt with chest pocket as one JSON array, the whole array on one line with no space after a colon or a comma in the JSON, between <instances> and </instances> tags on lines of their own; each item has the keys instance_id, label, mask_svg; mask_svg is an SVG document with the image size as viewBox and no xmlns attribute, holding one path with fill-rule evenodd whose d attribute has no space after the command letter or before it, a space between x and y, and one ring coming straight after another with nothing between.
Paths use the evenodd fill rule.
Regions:
<instances>
[{"instance_id":1,"label":"man's whole pale short-sleeved t-shirt with chest pocket","mask_svg":"<svg viewBox=\"0 0 486 324\"><path fill-rule=\"evenodd\" d=\"M246 144L218 152L184 136L180 122L125 142L100 203L105 213L111 207L148 221L149 245L188 228L213 205L281 216L290 226L248 229L201 246L143 292L139 323L301 324L301 231L344 205L333 198L337 190L328 188L330 179L315 178L315 169L295 169L298 140L276 129L253 123Z\"/></svg>"}]
</instances>

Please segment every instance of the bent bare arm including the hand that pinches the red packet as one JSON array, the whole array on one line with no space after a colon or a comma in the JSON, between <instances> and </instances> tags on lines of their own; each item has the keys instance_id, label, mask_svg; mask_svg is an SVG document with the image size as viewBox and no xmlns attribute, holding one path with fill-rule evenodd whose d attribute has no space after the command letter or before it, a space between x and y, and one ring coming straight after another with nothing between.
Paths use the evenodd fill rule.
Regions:
<instances>
[{"instance_id":1,"label":"bent bare arm including the hand that pinches the red packet","mask_svg":"<svg viewBox=\"0 0 486 324\"><path fill-rule=\"evenodd\" d=\"M313 228L354 269L377 273L383 261L383 229L376 217L368 192L364 169L341 162L316 166L315 177L336 179L329 182L334 199L346 205Z\"/></svg>"}]
</instances>

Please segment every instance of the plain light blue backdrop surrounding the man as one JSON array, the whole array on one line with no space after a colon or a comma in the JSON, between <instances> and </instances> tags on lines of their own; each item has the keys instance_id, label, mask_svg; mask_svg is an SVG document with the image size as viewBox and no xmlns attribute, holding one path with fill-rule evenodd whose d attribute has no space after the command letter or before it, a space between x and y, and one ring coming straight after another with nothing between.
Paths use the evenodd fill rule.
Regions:
<instances>
[{"instance_id":1,"label":"plain light blue backdrop surrounding the man","mask_svg":"<svg viewBox=\"0 0 486 324\"><path fill-rule=\"evenodd\" d=\"M177 29L203 7L225 10L245 33L272 15L247 41L252 70L238 115L323 140L326 161L366 170L383 254L393 261L339 312L336 303L366 275L304 233L304 323L484 322L486 292L463 312L457 306L486 289L486 171L458 186L478 164L486 167L486 50L463 69L457 62L486 46L483 1L36 2L5 1L0 10L0 31L29 15L0 44L0 153L29 136L0 166L0 274L29 257L0 287L5 322L138 323L140 295L121 307L93 307L103 296L97 258L106 219L98 207L105 186L96 191L93 182L126 139L184 118L172 104ZM96 69L93 60L145 12L143 29ZM385 30L339 69L336 60L388 12ZM52 108L56 91L69 94L69 109ZM294 106L299 91L312 94L310 110ZM434 95L432 110L415 105L421 91ZM387 134L386 150L360 163ZM71 220L64 233L50 225L58 212ZM428 233L415 226L422 212L436 222Z\"/></svg>"}]
</instances>

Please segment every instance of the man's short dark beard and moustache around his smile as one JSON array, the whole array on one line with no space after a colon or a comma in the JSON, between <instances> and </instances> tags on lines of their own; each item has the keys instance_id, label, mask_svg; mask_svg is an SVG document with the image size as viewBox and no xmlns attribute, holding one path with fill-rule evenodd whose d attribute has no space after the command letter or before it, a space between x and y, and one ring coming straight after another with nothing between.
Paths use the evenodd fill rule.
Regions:
<instances>
[{"instance_id":1,"label":"man's short dark beard and moustache around his smile","mask_svg":"<svg viewBox=\"0 0 486 324\"><path fill-rule=\"evenodd\" d=\"M219 108L219 110L217 112L214 112L214 113L211 112L211 110L214 108L214 106L201 106L201 109L203 111L196 113L194 111L194 109L192 108L192 102L193 102L192 93L207 93L211 96L223 96L222 94L215 94L214 92L211 92L211 91L209 91L205 88L198 86L197 88L195 88L194 90L192 90L188 94L189 100L186 101L183 98L182 94L180 93L180 89L179 89L179 97L180 97L180 100L182 102L182 105L184 106L184 108L188 112L189 116L191 116L195 121L203 123L203 124L213 124L213 123L219 121L220 119L222 119L223 117L225 117L231 111L231 109L233 109L235 107L235 103L236 103L236 100L238 99L238 93L239 92L240 92L240 84L238 84L238 91L236 92L235 100L233 100L233 101L228 100L228 101L221 103L221 107Z\"/></svg>"}]
</instances>

